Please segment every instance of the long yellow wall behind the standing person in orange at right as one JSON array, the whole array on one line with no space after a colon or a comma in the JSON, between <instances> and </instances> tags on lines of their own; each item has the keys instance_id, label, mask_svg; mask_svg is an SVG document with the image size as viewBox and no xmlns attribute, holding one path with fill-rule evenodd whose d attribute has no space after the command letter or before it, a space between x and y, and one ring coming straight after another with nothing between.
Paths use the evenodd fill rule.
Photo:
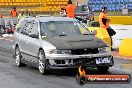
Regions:
<instances>
[{"instance_id":1,"label":"long yellow wall behind the standing person in orange at right","mask_svg":"<svg viewBox=\"0 0 132 88\"><path fill-rule=\"evenodd\" d=\"M99 16L95 16L95 20L98 20ZM124 24L132 25L132 16L108 16L111 19L110 24Z\"/></svg>"}]
</instances>

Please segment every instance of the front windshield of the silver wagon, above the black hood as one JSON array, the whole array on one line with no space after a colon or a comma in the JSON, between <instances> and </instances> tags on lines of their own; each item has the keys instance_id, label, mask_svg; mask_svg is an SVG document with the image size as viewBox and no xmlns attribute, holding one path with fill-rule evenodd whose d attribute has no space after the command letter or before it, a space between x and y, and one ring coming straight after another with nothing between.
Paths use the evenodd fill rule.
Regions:
<instances>
[{"instance_id":1,"label":"front windshield of the silver wagon, above the black hood","mask_svg":"<svg viewBox=\"0 0 132 88\"><path fill-rule=\"evenodd\" d=\"M79 22L50 21L41 22L41 36L89 35L90 32Z\"/></svg>"}]
</instances>

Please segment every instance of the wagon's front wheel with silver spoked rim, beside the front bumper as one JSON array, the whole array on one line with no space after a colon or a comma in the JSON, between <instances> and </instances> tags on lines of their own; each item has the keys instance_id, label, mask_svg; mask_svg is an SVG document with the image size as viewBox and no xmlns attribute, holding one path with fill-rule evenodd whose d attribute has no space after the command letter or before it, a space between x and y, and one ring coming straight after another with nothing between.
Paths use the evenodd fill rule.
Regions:
<instances>
[{"instance_id":1,"label":"wagon's front wheel with silver spoked rim, beside the front bumper","mask_svg":"<svg viewBox=\"0 0 132 88\"><path fill-rule=\"evenodd\" d=\"M46 74L46 60L43 50L40 50L38 54L38 69L42 75Z\"/></svg>"}]
</instances>

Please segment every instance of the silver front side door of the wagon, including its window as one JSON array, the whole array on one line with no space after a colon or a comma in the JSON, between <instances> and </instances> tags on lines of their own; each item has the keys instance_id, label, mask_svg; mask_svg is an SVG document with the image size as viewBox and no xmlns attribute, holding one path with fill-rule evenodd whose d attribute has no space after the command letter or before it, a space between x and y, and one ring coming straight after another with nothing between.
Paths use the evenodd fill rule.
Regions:
<instances>
[{"instance_id":1,"label":"silver front side door of the wagon, including its window","mask_svg":"<svg viewBox=\"0 0 132 88\"><path fill-rule=\"evenodd\" d=\"M41 42L39 40L39 23L37 21L32 20L32 24L30 27L29 39L28 39L28 54L30 55L30 61L36 63L38 51L41 46ZM37 35L36 38L30 36L30 34Z\"/></svg>"}]
</instances>

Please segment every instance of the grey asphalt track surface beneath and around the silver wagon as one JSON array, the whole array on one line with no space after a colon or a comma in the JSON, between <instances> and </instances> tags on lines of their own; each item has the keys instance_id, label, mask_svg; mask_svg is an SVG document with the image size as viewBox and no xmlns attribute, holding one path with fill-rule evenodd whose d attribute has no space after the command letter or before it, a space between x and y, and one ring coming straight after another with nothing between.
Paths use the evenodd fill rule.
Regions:
<instances>
[{"instance_id":1,"label":"grey asphalt track surface beneath and around the silver wagon","mask_svg":"<svg viewBox=\"0 0 132 88\"><path fill-rule=\"evenodd\" d=\"M17 67L12 57L12 41L0 40L0 88L131 88L129 84L77 84L76 73L72 71L51 71L41 75L37 68ZM106 74L130 74L132 60L114 58L115 65ZM87 74L100 74L96 69L87 68Z\"/></svg>"}]
</instances>

